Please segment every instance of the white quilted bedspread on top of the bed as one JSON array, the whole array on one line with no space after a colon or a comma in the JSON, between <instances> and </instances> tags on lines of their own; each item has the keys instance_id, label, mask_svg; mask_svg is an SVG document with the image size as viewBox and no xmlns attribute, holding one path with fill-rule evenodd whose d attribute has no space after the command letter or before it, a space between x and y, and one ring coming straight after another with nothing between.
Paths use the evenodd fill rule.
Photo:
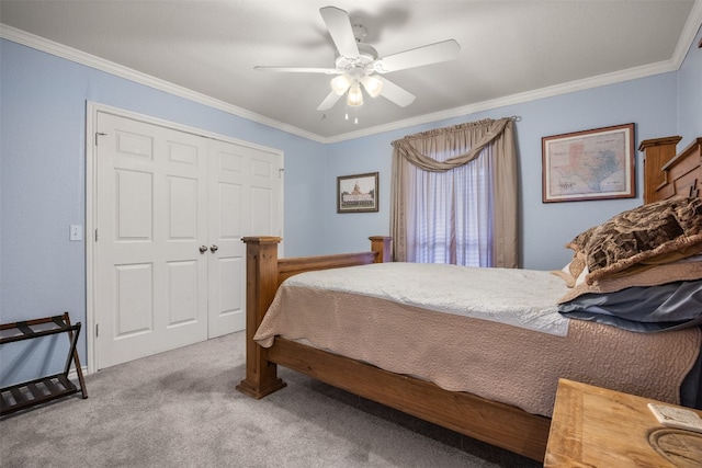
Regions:
<instances>
[{"instance_id":1,"label":"white quilted bedspread on top of the bed","mask_svg":"<svg viewBox=\"0 0 702 468\"><path fill-rule=\"evenodd\" d=\"M568 290L550 272L445 264L375 263L307 272L290 286L331 289L565 336L557 301Z\"/></svg>"}]
</instances>

